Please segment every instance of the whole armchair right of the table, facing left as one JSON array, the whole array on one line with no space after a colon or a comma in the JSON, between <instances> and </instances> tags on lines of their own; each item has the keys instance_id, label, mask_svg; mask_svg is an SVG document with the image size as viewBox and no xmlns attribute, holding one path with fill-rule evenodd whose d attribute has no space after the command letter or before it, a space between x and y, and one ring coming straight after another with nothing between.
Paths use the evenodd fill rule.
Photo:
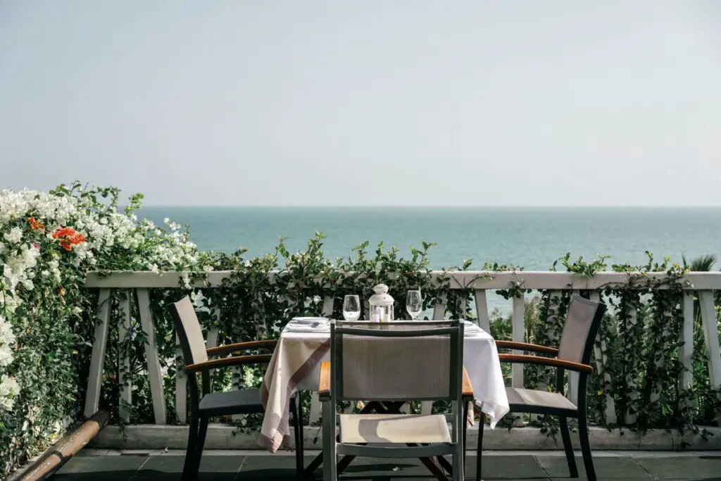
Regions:
<instances>
[{"instance_id":1,"label":"whole armchair right of the table, facing left","mask_svg":"<svg viewBox=\"0 0 721 481\"><path fill-rule=\"evenodd\" d=\"M588 420L586 420L586 382L588 374L593 372L589 365L593 343L601 326L606 304L601 304L580 296L572 296L568 306L568 314L561 335L559 348L550 348L542 345L515 343L512 341L496 341L498 348L524 350L539 354L550 354L553 358L541 356L527 356L517 354L500 354L500 361L508 363L528 363L541 366L553 366L557 370L556 392L536 391L520 387L507 387L510 412L528 412L539 415L558 416L563 449L566 451L566 461L571 477L578 477L571 436L568 432L567 418L578 419L578 438L583 454L583 464L589 481L596 480L596 471L593 469L590 445L588 444ZM578 372L578 406L575 406L563 395L565 370ZM481 476L481 449L483 443L483 422L478 428L477 448L477 475Z\"/></svg>"}]
</instances>

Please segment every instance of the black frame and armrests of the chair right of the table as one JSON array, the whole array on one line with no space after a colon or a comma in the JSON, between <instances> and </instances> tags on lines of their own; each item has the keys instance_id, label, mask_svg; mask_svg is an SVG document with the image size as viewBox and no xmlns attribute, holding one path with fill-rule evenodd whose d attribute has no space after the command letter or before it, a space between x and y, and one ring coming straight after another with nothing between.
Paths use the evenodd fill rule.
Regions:
<instances>
[{"instance_id":1,"label":"black frame and armrests of the chair right of the table","mask_svg":"<svg viewBox=\"0 0 721 481\"><path fill-rule=\"evenodd\" d=\"M566 454L566 461L570 477L578 477L578 468L573 454L573 446L571 444L571 436L568 430L567 418L578 419L578 438L581 446L581 454L583 455L583 464L586 471L586 477L589 481L596 481L596 470L593 468L593 457L591 456L590 443L588 440L588 419L586 418L586 385L588 384L588 374L593 372L593 368L589 365L590 356L593 352L593 344L596 342L598 329L601 327L603 314L606 312L606 304L589 301L580 296L573 296L572 302L582 302L585 304L593 304L596 312L590 322L588 328L588 336L583 346L583 356L580 363L565 361L558 358L548 358L541 356L524 356L515 354L500 354L500 361L508 363L526 363L536 364L539 366L552 366L556 368L556 392L562 393L565 387L565 371L578 372L578 405L575 410L559 409L556 407L532 406L510 404L510 412L527 412L529 414L552 415L558 416L561 438L563 440L563 449ZM542 345L516 343L513 341L496 341L498 348L524 350L539 354L558 355L557 348L550 348ZM476 454L476 480L481 479L481 452L483 445L483 431L485 428L485 415L481 413L480 423L478 427L478 446Z\"/></svg>"}]
</instances>

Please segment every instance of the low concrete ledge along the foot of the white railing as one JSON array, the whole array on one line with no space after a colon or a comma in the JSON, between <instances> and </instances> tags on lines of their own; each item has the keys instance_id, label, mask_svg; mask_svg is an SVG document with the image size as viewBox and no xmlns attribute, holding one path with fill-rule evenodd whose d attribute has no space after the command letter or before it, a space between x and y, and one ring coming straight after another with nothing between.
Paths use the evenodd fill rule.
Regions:
<instances>
[{"instance_id":1,"label":"low concrete ledge along the foot of the white railing","mask_svg":"<svg viewBox=\"0 0 721 481\"><path fill-rule=\"evenodd\" d=\"M721 450L721 428L707 427L709 436L707 441L701 436L686 433L681 436L676 431L668 433L663 430L647 431L645 436L639 436L632 431L614 430L606 428L590 428L590 445L598 450L633 450L633 451L718 451ZM93 449L185 449L187 445L187 426L182 425L128 425L124 432L118 426L107 426L90 443L88 448ZM305 449L321 449L322 437L319 427L306 426L304 428ZM291 433L291 440L293 435ZM579 449L578 434L571 433L575 449ZM478 428L468 429L468 447L476 449L478 441ZM686 443L682 447L682 443ZM486 428L483 434L484 450L524 450L542 451L563 449L560 435L557 440L542 434L539 428ZM237 428L226 424L211 423L208 427L208 437L205 440L205 449L250 449L260 450L257 444L257 432L241 433Z\"/></svg>"}]
</instances>

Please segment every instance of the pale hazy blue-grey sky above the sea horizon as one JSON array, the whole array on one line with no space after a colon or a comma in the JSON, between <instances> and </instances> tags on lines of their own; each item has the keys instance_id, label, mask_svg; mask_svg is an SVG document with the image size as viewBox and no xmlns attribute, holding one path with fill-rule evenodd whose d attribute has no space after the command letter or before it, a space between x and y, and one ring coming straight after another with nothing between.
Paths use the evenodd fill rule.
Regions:
<instances>
[{"instance_id":1,"label":"pale hazy blue-grey sky above the sea horizon","mask_svg":"<svg viewBox=\"0 0 721 481\"><path fill-rule=\"evenodd\" d=\"M721 206L721 1L0 1L0 187Z\"/></svg>"}]
</instances>

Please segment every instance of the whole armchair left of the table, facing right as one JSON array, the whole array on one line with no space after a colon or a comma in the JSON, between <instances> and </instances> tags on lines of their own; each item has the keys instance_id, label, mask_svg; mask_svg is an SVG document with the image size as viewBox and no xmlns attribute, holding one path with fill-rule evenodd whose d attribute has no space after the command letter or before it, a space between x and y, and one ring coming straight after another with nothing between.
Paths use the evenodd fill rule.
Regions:
<instances>
[{"instance_id":1,"label":"whole armchair left of the table, facing right","mask_svg":"<svg viewBox=\"0 0 721 481\"><path fill-rule=\"evenodd\" d=\"M267 363L270 361L271 354L209 358L230 353L237 354L239 351L249 349L273 349L278 341L257 340L206 349L203 332L200 330L200 322L198 322L198 316L195 314L190 297L185 296L168 307L180 340L183 358L185 358L187 386L190 390L190 434L187 441L182 480L194 480L198 477L200 457L203 456L203 444L205 444L205 434L208 431L210 418L221 415L265 412L260 401L259 389L211 392L210 371L224 366ZM200 397L198 397L196 379L198 373L201 374L203 388ZM291 397L290 410L293 416L293 431L296 435L296 475L301 477L303 472L303 418L300 393Z\"/></svg>"}]
</instances>

